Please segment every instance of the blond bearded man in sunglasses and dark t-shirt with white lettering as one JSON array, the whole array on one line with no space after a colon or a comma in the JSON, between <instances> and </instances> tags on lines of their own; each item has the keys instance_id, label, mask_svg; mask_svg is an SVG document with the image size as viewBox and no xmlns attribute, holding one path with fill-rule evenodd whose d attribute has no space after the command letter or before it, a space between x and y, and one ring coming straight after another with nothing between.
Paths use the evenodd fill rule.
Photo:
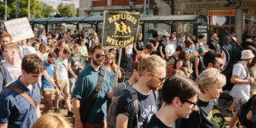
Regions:
<instances>
[{"instance_id":1,"label":"blond bearded man in sunglasses and dark t-shirt with white lettering","mask_svg":"<svg viewBox=\"0 0 256 128\"><path fill-rule=\"evenodd\" d=\"M158 55L151 55L149 58L139 60L138 73L139 81L132 85L138 96L139 109L138 121L132 126L145 127L158 108L158 101L154 91L162 86L166 76L164 59ZM147 65L147 66L145 66ZM116 104L116 127L126 128L132 110L132 98L129 91L124 91Z\"/></svg>"}]
</instances>

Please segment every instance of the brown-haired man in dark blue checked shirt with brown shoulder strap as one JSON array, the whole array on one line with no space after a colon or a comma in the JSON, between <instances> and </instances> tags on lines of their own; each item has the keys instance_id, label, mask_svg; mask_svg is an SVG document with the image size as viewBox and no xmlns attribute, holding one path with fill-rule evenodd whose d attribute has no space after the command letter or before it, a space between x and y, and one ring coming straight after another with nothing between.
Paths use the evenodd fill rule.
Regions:
<instances>
[{"instance_id":1,"label":"brown-haired man in dark blue checked shirt with brown shoulder strap","mask_svg":"<svg viewBox=\"0 0 256 128\"><path fill-rule=\"evenodd\" d=\"M39 81L45 71L45 64L37 55L26 55L21 62L22 74L13 86L26 92L36 103L36 109L20 93L5 88L0 93L0 127L27 128L40 117Z\"/></svg>"}]
</instances>

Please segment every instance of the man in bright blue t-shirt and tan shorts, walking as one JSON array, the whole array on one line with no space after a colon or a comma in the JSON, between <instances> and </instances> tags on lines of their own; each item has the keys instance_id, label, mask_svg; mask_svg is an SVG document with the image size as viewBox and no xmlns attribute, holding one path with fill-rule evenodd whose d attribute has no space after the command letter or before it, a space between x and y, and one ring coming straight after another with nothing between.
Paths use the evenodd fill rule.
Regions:
<instances>
[{"instance_id":1,"label":"man in bright blue t-shirt and tan shorts, walking","mask_svg":"<svg viewBox=\"0 0 256 128\"><path fill-rule=\"evenodd\" d=\"M46 66L46 72L49 74L50 78L54 78L54 63L55 59L57 59L57 55L52 52L48 55L47 60L44 62ZM56 94L60 95L59 88L54 84L52 85L50 82L48 82L45 78L45 76L42 77L42 94L45 99L45 108L42 111L42 114L48 112L50 108L53 106L52 100L55 98L55 91ZM57 98L57 97L56 97Z\"/></svg>"}]
</instances>

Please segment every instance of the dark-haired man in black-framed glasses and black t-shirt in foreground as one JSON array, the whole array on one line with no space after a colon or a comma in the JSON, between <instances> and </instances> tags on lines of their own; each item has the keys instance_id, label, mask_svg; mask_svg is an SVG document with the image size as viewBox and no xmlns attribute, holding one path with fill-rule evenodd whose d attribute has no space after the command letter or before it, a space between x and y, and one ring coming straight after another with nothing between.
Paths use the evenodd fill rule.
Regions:
<instances>
[{"instance_id":1,"label":"dark-haired man in black-framed glasses and black t-shirt in foreground","mask_svg":"<svg viewBox=\"0 0 256 128\"><path fill-rule=\"evenodd\" d=\"M145 128L178 127L178 117L188 118L192 111L197 111L198 93L199 88L185 76L175 75L166 79L162 88L162 107Z\"/></svg>"}]
</instances>

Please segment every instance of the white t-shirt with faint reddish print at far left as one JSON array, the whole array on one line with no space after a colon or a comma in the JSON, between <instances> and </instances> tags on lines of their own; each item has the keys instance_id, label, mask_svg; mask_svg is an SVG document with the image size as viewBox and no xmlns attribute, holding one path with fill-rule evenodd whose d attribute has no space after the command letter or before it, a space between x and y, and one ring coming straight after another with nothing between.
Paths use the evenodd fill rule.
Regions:
<instances>
[{"instance_id":1,"label":"white t-shirt with faint reddish print at far left","mask_svg":"<svg viewBox=\"0 0 256 128\"><path fill-rule=\"evenodd\" d=\"M2 64L2 67L3 67L4 73L5 73L6 84L17 80L17 78L19 78L20 75L22 74L22 72L21 72L21 61L20 61L19 64L16 64L16 65L12 65L8 61L5 61Z\"/></svg>"}]
</instances>

